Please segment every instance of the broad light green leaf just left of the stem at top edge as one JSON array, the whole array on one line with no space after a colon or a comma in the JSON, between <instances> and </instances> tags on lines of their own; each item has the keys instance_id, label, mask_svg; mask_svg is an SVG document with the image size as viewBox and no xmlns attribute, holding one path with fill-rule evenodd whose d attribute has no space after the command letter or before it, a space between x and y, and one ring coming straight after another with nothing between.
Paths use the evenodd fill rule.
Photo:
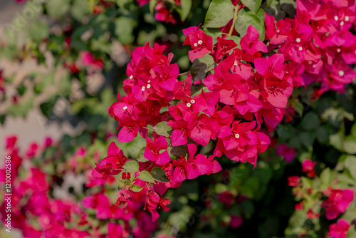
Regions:
<instances>
[{"instance_id":1,"label":"broad light green leaf just left of the stem at top edge","mask_svg":"<svg viewBox=\"0 0 356 238\"><path fill-rule=\"evenodd\" d=\"M203 27L225 26L234 18L234 5L231 0L213 0L205 16Z\"/></svg>"}]
</instances>

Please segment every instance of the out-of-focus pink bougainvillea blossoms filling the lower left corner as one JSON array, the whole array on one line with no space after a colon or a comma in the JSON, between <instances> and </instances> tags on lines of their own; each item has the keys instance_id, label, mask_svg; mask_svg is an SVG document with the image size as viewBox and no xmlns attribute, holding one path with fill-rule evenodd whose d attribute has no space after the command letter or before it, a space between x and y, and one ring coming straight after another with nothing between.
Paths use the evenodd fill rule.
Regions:
<instances>
[{"instance_id":1,"label":"out-of-focus pink bougainvillea blossoms filling the lower left corner","mask_svg":"<svg viewBox=\"0 0 356 238\"><path fill-rule=\"evenodd\" d=\"M157 222L152 222L149 214L142 211L145 205L145 192L132 193L132 200L127 201L125 207L118 207L111 202L103 192L108 186L104 186L101 178L86 175L91 180L93 190L86 190L86 197L80 202L69 198L56 198L51 190L56 190L58 175L41 170L38 166L38 154L53 145L51 138L45 138L43 144L38 145L36 155L31 157L31 167L23 164L16 146L16 136L6 138L6 155L11 156L11 227L21 229L25 238L56 238L56 237L150 237L157 229ZM34 144L34 143L33 143ZM36 144L37 145L37 144ZM31 148L31 145L30 147ZM56 148L56 147L55 147ZM107 161L122 158L121 150L110 145ZM88 160L82 160L87 156L87 151L78 148L73 159L61 163L59 167L68 168L61 170L61 176L72 173L80 175L88 169L93 169ZM37 160L36 162L34 162ZM72 166L73 161L75 166ZM33 164L32 164L33 162ZM36 166L37 164L37 166ZM108 165L108 162L107 162ZM21 172L21 175L19 173ZM25 173L26 176L23 176ZM5 183L5 169L0 169L0 185ZM108 180L110 180L108 178ZM114 180L115 181L115 180ZM87 182L88 184L88 182ZM53 186L54 185L54 186ZM142 183L140 184L142 185ZM115 185L114 185L115 186ZM98 190L99 189L99 190ZM3 194L1 194L2 196ZM167 202L160 202L160 206ZM0 216L6 219L6 202L0 203ZM90 216L95 211L95 218ZM135 219L137 225L129 223ZM105 224L108 220L108 224ZM122 221L118 222L118 221ZM5 224L5 222L4 222Z\"/></svg>"}]
</instances>

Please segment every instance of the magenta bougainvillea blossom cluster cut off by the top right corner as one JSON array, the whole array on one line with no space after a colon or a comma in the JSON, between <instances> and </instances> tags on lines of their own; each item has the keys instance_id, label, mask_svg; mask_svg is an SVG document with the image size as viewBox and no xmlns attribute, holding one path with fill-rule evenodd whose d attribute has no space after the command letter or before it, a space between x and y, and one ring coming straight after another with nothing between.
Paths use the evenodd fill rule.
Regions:
<instances>
[{"instance_id":1,"label":"magenta bougainvillea blossom cluster cut off by the top right corner","mask_svg":"<svg viewBox=\"0 0 356 238\"><path fill-rule=\"evenodd\" d=\"M274 48L289 61L287 70L294 86L320 83L327 90L345 92L356 73L355 1L297 0L295 19L276 22L266 14L268 51ZM319 92L320 93L320 92Z\"/></svg>"}]
</instances>

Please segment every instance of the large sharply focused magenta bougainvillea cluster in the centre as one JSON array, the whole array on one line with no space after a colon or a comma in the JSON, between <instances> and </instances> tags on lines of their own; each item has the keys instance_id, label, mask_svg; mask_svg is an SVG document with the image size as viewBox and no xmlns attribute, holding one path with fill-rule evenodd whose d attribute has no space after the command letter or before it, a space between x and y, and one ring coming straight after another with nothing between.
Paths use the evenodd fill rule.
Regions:
<instances>
[{"instance_id":1,"label":"large sharply focused magenta bougainvillea cluster in the centre","mask_svg":"<svg viewBox=\"0 0 356 238\"><path fill-rule=\"evenodd\" d=\"M184 35L187 36L184 44L192 47L191 61L210 53L217 63L214 74L197 82L188 74L184 81L178 81L179 68L177 63L171 63L172 53L164 56L164 46L155 44L151 48L147 43L132 52L128 78L122 86L126 95L117 95L118 102L108 108L112 118L119 122L120 143L134 140L139 133L146 139L144 157L148 162L140 162L139 172L146 169L150 172L154 167L164 170L171 181L164 182L165 190L178 187L186 179L221 170L214 157L226 155L256 167L258 153L271 143L268 132L261 130L261 126L264 123L270 132L276 128L293 90L283 54L263 58L267 47L258 40L259 33L253 26L248 27L239 46L222 38L214 46L211 36L199 26L185 29ZM204 86L201 93L192 94L193 83ZM158 135L150 129L159 123L167 123L169 135ZM154 132L150 135L148 130ZM197 145L208 145L211 140L217 143L214 155L196 155ZM171 150L169 155L172 147L184 148L183 155L174 152L177 150ZM107 165L107 160L97 165L93 175L105 179L105 175L120 172L125 163L120 162L112 173L114 163ZM147 166L142 166L144 163ZM155 191L152 192L147 196L158 202ZM155 219L154 210L162 205L155 206L149 201L151 205L147 208Z\"/></svg>"}]
</instances>

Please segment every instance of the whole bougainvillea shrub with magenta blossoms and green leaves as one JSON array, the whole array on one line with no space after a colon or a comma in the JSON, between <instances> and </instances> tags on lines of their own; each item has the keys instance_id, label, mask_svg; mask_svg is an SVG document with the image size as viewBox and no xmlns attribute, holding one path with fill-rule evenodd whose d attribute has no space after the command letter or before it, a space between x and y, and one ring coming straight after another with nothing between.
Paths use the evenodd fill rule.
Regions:
<instances>
[{"instance_id":1,"label":"whole bougainvillea shrub with magenta blossoms and green leaves","mask_svg":"<svg viewBox=\"0 0 356 238\"><path fill-rule=\"evenodd\" d=\"M51 13L51 4L43 6ZM61 52L51 46L51 33L43 41L63 57L56 62L85 85L86 78L113 71L115 54L101 43L113 46L118 38L131 60L127 66L115 61L126 76L122 83L115 78L114 93L65 94L76 116L88 122L80 140L93 149L71 151L56 177L67 170L84 174L85 196L76 198L78 204L51 195L50 172L35 166L14 187L29 201L19 205L28 211L18 214L28 224L24 236L231 237L234 229L251 237L355 235L355 1L213 0L208 8L205 1L127 0L88 6L83 16L89 29L84 21L75 25L83 16L70 5L75 21L61 29ZM195 15L205 11L201 25ZM164 28L164 37L146 43L147 35L137 35L132 24L139 19L153 22L157 32L157 21L172 24L174 33ZM122 24L132 27L124 31ZM117 140L103 135L115 128ZM49 140L46 146L51 148ZM41 150L31 144L26 158ZM51 214L33 211L36 199ZM67 213L56 217L56 207ZM30 215L40 228L28 222ZM46 218L61 226L48 225Z\"/></svg>"}]
</instances>

